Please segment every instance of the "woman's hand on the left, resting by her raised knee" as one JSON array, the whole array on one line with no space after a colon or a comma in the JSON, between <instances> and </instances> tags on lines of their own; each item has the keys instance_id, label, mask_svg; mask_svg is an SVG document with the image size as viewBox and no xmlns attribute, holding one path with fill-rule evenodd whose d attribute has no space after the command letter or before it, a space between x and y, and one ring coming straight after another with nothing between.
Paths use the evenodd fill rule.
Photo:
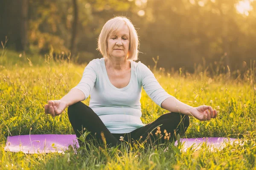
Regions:
<instances>
[{"instance_id":1,"label":"woman's hand on the left, resting by her raised knee","mask_svg":"<svg viewBox=\"0 0 256 170\"><path fill-rule=\"evenodd\" d=\"M61 100L49 100L48 105L44 106L44 112L51 114L52 117L60 115L67 108L67 103Z\"/></svg>"}]
</instances>

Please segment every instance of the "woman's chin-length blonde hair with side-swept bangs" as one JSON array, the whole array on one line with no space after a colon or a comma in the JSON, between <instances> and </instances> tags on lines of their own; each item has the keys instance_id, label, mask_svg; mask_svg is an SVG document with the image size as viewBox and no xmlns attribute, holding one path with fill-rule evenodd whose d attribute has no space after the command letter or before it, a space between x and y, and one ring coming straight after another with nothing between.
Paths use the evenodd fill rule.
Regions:
<instances>
[{"instance_id":1,"label":"woman's chin-length blonde hair with side-swept bangs","mask_svg":"<svg viewBox=\"0 0 256 170\"><path fill-rule=\"evenodd\" d=\"M129 44L129 51L126 56L126 59L131 59L133 61L138 59L139 53L139 38L137 31L135 30L131 21L126 17L114 17L108 20L105 25L103 26L99 38L98 38L98 48L97 50L100 51L103 57L108 58L108 37L110 34L116 33L119 31L122 26L126 25L129 29L130 34L130 44Z\"/></svg>"}]
</instances>

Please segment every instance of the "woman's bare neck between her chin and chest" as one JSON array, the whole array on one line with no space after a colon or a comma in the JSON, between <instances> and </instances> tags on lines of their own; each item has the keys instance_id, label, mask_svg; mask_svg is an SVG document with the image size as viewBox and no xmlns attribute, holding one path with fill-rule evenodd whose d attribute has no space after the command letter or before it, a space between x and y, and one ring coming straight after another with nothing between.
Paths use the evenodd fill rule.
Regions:
<instances>
[{"instance_id":1,"label":"woman's bare neck between her chin and chest","mask_svg":"<svg viewBox=\"0 0 256 170\"><path fill-rule=\"evenodd\" d=\"M105 58L106 67L112 68L114 70L125 70L129 66L129 62L125 58Z\"/></svg>"}]
</instances>

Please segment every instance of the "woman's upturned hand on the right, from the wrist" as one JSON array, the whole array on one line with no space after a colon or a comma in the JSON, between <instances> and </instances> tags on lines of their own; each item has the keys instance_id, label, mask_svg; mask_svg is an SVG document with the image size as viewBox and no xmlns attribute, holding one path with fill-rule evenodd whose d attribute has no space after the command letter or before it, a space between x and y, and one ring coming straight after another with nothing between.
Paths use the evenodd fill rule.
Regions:
<instances>
[{"instance_id":1,"label":"woman's upturned hand on the right, from the wrist","mask_svg":"<svg viewBox=\"0 0 256 170\"><path fill-rule=\"evenodd\" d=\"M216 118L217 116L217 111L215 109L213 110L211 106L207 105L192 108L189 112L192 114L192 116L201 121L210 120L212 118Z\"/></svg>"}]
</instances>

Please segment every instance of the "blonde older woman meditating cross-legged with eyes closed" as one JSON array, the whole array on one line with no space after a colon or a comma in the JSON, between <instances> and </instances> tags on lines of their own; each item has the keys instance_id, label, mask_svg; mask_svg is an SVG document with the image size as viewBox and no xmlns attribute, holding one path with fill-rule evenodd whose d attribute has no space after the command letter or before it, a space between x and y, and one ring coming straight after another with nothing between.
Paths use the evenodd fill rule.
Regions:
<instances>
[{"instance_id":1,"label":"blonde older woman meditating cross-legged with eyes closed","mask_svg":"<svg viewBox=\"0 0 256 170\"><path fill-rule=\"evenodd\" d=\"M134 62L138 46L137 31L130 20L125 17L108 20L98 39L103 58L90 61L79 84L60 100L49 101L45 113L58 116L68 107L77 137L85 129L91 132L88 139L105 140L108 145L129 139L154 142L157 136L162 136L160 142L164 143L185 133L189 116L201 121L217 116L210 106L194 108L166 93L143 63ZM140 120L142 87L157 105L170 111L147 125ZM87 106L81 101L89 95Z\"/></svg>"}]
</instances>

